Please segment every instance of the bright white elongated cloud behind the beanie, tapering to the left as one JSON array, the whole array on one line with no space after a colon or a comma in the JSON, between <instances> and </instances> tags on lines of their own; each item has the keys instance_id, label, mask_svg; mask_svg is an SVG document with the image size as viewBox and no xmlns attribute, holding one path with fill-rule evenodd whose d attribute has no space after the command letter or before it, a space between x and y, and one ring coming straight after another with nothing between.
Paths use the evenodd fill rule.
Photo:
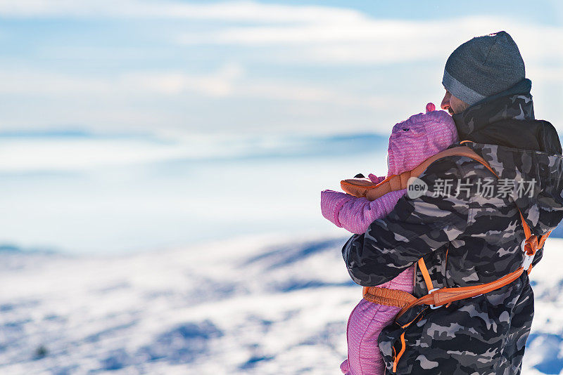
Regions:
<instances>
[{"instance_id":1,"label":"bright white elongated cloud behind the beanie, tapering to the left","mask_svg":"<svg viewBox=\"0 0 563 375\"><path fill-rule=\"evenodd\" d=\"M279 61L323 65L444 60L453 48L474 35L505 29L527 60L563 61L563 28L530 25L490 16L445 20L377 20L367 15L339 20L317 18L307 24L223 27L182 34L184 45L215 44L293 49L274 55ZM455 32L451 32L455 30Z\"/></svg>"}]
</instances>

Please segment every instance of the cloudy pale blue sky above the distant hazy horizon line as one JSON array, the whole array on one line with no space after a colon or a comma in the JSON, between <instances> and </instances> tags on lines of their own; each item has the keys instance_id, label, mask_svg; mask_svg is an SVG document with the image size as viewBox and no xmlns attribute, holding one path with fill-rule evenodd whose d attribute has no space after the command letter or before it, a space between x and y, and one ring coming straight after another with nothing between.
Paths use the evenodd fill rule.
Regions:
<instances>
[{"instance_id":1,"label":"cloudy pale blue sky above the distant hazy horizon line","mask_svg":"<svg viewBox=\"0 0 563 375\"><path fill-rule=\"evenodd\" d=\"M563 6L534 4L3 0L0 132L386 134L500 29L559 129Z\"/></svg>"}]
</instances>

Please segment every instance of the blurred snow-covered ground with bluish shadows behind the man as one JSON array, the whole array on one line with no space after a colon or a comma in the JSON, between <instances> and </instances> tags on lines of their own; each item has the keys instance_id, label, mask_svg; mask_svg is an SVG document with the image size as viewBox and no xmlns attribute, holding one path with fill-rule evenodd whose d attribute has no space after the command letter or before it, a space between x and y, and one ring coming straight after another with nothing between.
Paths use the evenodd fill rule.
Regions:
<instances>
[{"instance_id":1,"label":"blurred snow-covered ground with bluish shadows behind the man","mask_svg":"<svg viewBox=\"0 0 563 375\"><path fill-rule=\"evenodd\" d=\"M0 374L339 374L347 237L113 258L0 252ZM563 374L563 239L533 271L524 374Z\"/></svg>"}]
</instances>

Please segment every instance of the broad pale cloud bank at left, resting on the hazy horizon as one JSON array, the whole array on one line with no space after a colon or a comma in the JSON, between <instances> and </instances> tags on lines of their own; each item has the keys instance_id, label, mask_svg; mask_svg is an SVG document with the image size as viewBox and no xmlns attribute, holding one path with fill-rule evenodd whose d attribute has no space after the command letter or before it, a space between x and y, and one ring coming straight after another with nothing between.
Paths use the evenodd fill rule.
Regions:
<instances>
[{"instance_id":1,"label":"broad pale cloud bank at left, resting on the hazy horizon","mask_svg":"<svg viewBox=\"0 0 563 375\"><path fill-rule=\"evenodd\" d=\"M236 62L201 73L153 69L96 75L4 65L0 82L0 127L12 131L317 129L311 121L330 131L335 124L341 129L343 121L358 124L344 113L353 112L366 121L391 100L330 81L251 77ZM265 123L269 125L264 127Z\"/></svg>"}]
</instances>

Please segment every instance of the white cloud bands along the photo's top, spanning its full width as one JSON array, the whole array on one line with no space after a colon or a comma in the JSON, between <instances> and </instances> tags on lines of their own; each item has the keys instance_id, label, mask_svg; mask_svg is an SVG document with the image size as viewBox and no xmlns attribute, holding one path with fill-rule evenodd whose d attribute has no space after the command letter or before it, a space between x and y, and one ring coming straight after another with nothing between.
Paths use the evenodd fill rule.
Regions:
<instances>
[{"instance_id":1,"label":"white cloud bands along the photo's top, spanning its full width","mask_svg":"<svg viewBox=\"0 0 563 375\"><path fill-rule=\"evenodd\" d=\"M533 25L500 16L439 20L382 20L348 8L229 1L187 4L151 0L0 0L0 15L12 18L122 18L245 22L219 29L184 32L184 45L239 45L293 48L263 58L323 65L443 60L474 35L505 29L529 60L563 61L563 28ZM455 32L454 32L455 31ZM278 50L279 52L279 50Z\"/></svg>"}]
</instances>

